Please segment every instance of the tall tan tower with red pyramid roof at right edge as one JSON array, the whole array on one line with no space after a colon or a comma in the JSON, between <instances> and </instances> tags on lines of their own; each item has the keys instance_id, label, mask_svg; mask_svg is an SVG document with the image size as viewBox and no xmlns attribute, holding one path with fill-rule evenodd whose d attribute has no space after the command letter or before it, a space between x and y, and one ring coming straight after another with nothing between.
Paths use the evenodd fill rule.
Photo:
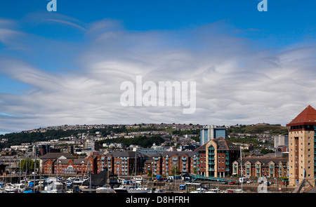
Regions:
<instances>
[{"instance_id":1,"label":"tall tan tower with red pyramid roof at right edge","mask_svg":"<svg viewBox=\"0 0 316 207\"><path fill-rule=\"evenodd\" d=\"M289 126L289 185L304 178L315 186L316 110L310 105Z\"/></svg>"}]
</instances>

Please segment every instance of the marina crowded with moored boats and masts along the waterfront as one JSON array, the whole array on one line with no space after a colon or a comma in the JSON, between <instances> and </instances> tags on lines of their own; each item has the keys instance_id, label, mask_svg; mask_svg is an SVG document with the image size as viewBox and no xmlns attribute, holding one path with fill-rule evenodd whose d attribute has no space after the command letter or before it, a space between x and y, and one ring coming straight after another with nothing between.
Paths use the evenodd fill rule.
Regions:
<instances>
[{"instance_id":1,"label":"marina crowded with moored boats and masts along the waterfront","mask_svg":"<svg viewBox=\"0 0 316 207\"><path fill-rule=\"evenodd\" d=\"M0 193L256 193L259 183L230 184L220 180L168 180L117 177L103 173L103 183L93 176L31 176L2 179ZM109 178L109 179L107 179ZM95 185L99 182L99 185ZM232 182L231 182L232 183ZM293 192L294 187L269 185L268 192Z\"/></svg>"}]
</instances>

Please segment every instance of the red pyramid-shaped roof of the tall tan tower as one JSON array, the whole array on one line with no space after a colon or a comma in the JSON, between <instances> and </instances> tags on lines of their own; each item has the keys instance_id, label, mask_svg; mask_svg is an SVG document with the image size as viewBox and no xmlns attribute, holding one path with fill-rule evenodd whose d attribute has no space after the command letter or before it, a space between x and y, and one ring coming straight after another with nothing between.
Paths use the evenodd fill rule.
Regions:
<instances>
[{"instance_id":1,"label":"red pyramid-shaped roof of the tall tan tower","mask_svg":"<svg viewBox=\"0 0 316 207\"><path fill-rule=\"evenodd\" d=\"M287 126L316 125L316 109L308 105L301 114L295 117Z\"/></svg>"}]
</instances>

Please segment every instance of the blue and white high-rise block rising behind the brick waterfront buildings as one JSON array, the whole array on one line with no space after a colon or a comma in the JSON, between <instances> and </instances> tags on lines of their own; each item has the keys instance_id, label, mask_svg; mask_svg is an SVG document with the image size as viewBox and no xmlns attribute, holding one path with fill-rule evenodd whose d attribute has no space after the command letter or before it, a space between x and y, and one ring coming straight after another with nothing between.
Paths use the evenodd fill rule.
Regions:
<instances>
[{"instance_id":1,"label":"blue and white high-rise block rising behind the brick waterfront buildings","mask_svg":"<svg viewBox=\"0 0 316 207\"><path fill-rule=\"evenodd\" d=\"M225 126L213 126L209 125L204 128L201 128L200 133L200 145L204 145L209 140L213 140L216 138L228 138L228 133Z\"/></svg>"}]
</instances>

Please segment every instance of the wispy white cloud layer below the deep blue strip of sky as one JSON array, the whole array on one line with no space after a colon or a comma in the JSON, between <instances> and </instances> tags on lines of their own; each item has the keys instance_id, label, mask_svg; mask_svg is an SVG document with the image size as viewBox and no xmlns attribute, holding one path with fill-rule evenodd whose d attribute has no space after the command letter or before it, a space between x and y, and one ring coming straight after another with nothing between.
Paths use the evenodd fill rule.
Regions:
<instances>
[{"instance_id":1,"label":"wispy white cloud layer below the deep blue strip of sky","mask_svg":"<svg viewBox=\"0 0 316 207\"><path fill-rule=\"evenodd\" d=\"M84 123L284 125L308 105L316 107L316 47L308 41L267 48L225 22L139 32L109 19L34 19L24 19L27 29L0 20L0 76L27 86L0 93L0 131ZM67 36L27 32L48 26ZM136 76L155 83L196 81L196 112L123 107L120 85L135 83Z\"/></svg>"}]
</instances>

